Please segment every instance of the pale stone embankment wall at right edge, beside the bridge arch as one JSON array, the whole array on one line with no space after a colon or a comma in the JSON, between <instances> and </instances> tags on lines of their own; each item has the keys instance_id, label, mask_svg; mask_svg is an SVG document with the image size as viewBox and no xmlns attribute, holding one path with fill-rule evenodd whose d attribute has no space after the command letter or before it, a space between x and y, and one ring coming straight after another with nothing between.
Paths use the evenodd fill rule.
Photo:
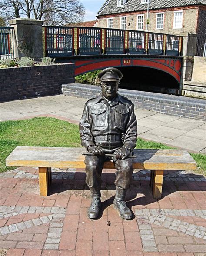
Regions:
<instances>
[{"instance_id":1,"label":"pale stone embankment wall at right edge, beside the bridge arch","mask_svg":"<svg viewBox=\"0 0 206 256\"><path fill-rule=\"evenodd\" d=\"M206 57L184 58L183 94L206 99Z\"/></svg>"}]
</instances>

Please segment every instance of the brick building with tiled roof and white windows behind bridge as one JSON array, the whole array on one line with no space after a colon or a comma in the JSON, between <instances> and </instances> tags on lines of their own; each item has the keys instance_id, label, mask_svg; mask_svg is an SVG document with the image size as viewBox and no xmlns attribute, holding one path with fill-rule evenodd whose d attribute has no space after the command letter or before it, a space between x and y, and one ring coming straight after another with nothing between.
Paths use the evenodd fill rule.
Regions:
<instances>
[{"instance_id":1,"label":"brick building with tiled roof and white windows behind bridge","mask_svg":"<svg viewBox=\"0 0 206 256\"><path fill-rule=\"evenodd\" d=\"M98 27L146 30L148 0L107 0ZM187 35L206 33L206 0L149 0L148 31Z\"/></svg>"}]
</instances>

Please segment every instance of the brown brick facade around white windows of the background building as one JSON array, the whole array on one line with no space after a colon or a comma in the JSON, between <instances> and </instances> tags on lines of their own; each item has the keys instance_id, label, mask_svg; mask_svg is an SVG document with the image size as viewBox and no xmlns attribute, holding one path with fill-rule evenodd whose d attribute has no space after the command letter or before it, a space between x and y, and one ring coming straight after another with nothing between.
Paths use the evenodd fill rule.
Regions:
<instances>
[{"instance_id":1,"label":"brown brick facade around white windows of the background building","mask_svg":"<svg viewBox=\"0 0 206 256\"><path fill-rule=\"evenodd\" d=\"M176 9L174 9L176 10ZM181 9L180 9L181 10ZM174 20L174 11L166 10L164 11L164 29L156 30L156 13L163 12L162 10L150 11L149 18L150 24L148 30L150 32L156 33L168 33L174 35L187 35L188 33L196 33L197 29L197 19L198 19L198 8L194 9L185 9L183 10L183 28L182 29L173 29L173 20ZM114 14L113 16L113 28L120 29L120 20L121 17L126 16L126 29L127 30L137 30L137 15L144 15L144 30L146 30L146 17L147 14L140 12L137 14ZM115 16L116 15L116 16ZM204 14L201 12L199 16L204 22ZM199 18L199 19L200 19ZM132 21L133 19L133 21ZM128 23L130 25L128 26ZM98 18L98 27L107 27L107 18Z\"/></svg>"}]
</instances>

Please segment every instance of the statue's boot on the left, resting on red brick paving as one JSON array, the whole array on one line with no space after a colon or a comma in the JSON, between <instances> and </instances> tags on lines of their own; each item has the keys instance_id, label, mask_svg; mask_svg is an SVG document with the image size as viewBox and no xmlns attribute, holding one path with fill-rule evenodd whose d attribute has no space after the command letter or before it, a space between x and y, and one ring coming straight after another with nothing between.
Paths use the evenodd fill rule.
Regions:
<instances>
[{"instance_id":1,"label":"statue's boot on the left, resting on red brick paving","mask_svg":"<svg viewBox=\"0 0 206 256\"><path fill-rule=\"evenodd\" d=\"M90 219L96 219L99 216L99 211L101 208L101 192L100 192L100 186L96 188L90 187L90 191L92 193L92 202L90 205L90 208L87 211L87 216Z\"/></svg>"}]
</instances>

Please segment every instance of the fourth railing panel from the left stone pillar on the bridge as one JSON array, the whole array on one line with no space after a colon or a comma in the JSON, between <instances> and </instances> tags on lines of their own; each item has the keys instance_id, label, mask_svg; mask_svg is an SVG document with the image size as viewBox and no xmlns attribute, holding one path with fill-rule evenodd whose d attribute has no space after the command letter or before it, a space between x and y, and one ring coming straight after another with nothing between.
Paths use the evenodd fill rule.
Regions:
<instances>
[{"instance_id":1,"label":"fourth railing panel from the left stone pillar on the bridge","mask_svg":"<svg viewBox=\"0 0 206 256\"><path fill-rule=\"evenodd\" d=\"M140 31L129 31L129 53L145 54L145 33Z\"/></svg>"}]
</instances>

